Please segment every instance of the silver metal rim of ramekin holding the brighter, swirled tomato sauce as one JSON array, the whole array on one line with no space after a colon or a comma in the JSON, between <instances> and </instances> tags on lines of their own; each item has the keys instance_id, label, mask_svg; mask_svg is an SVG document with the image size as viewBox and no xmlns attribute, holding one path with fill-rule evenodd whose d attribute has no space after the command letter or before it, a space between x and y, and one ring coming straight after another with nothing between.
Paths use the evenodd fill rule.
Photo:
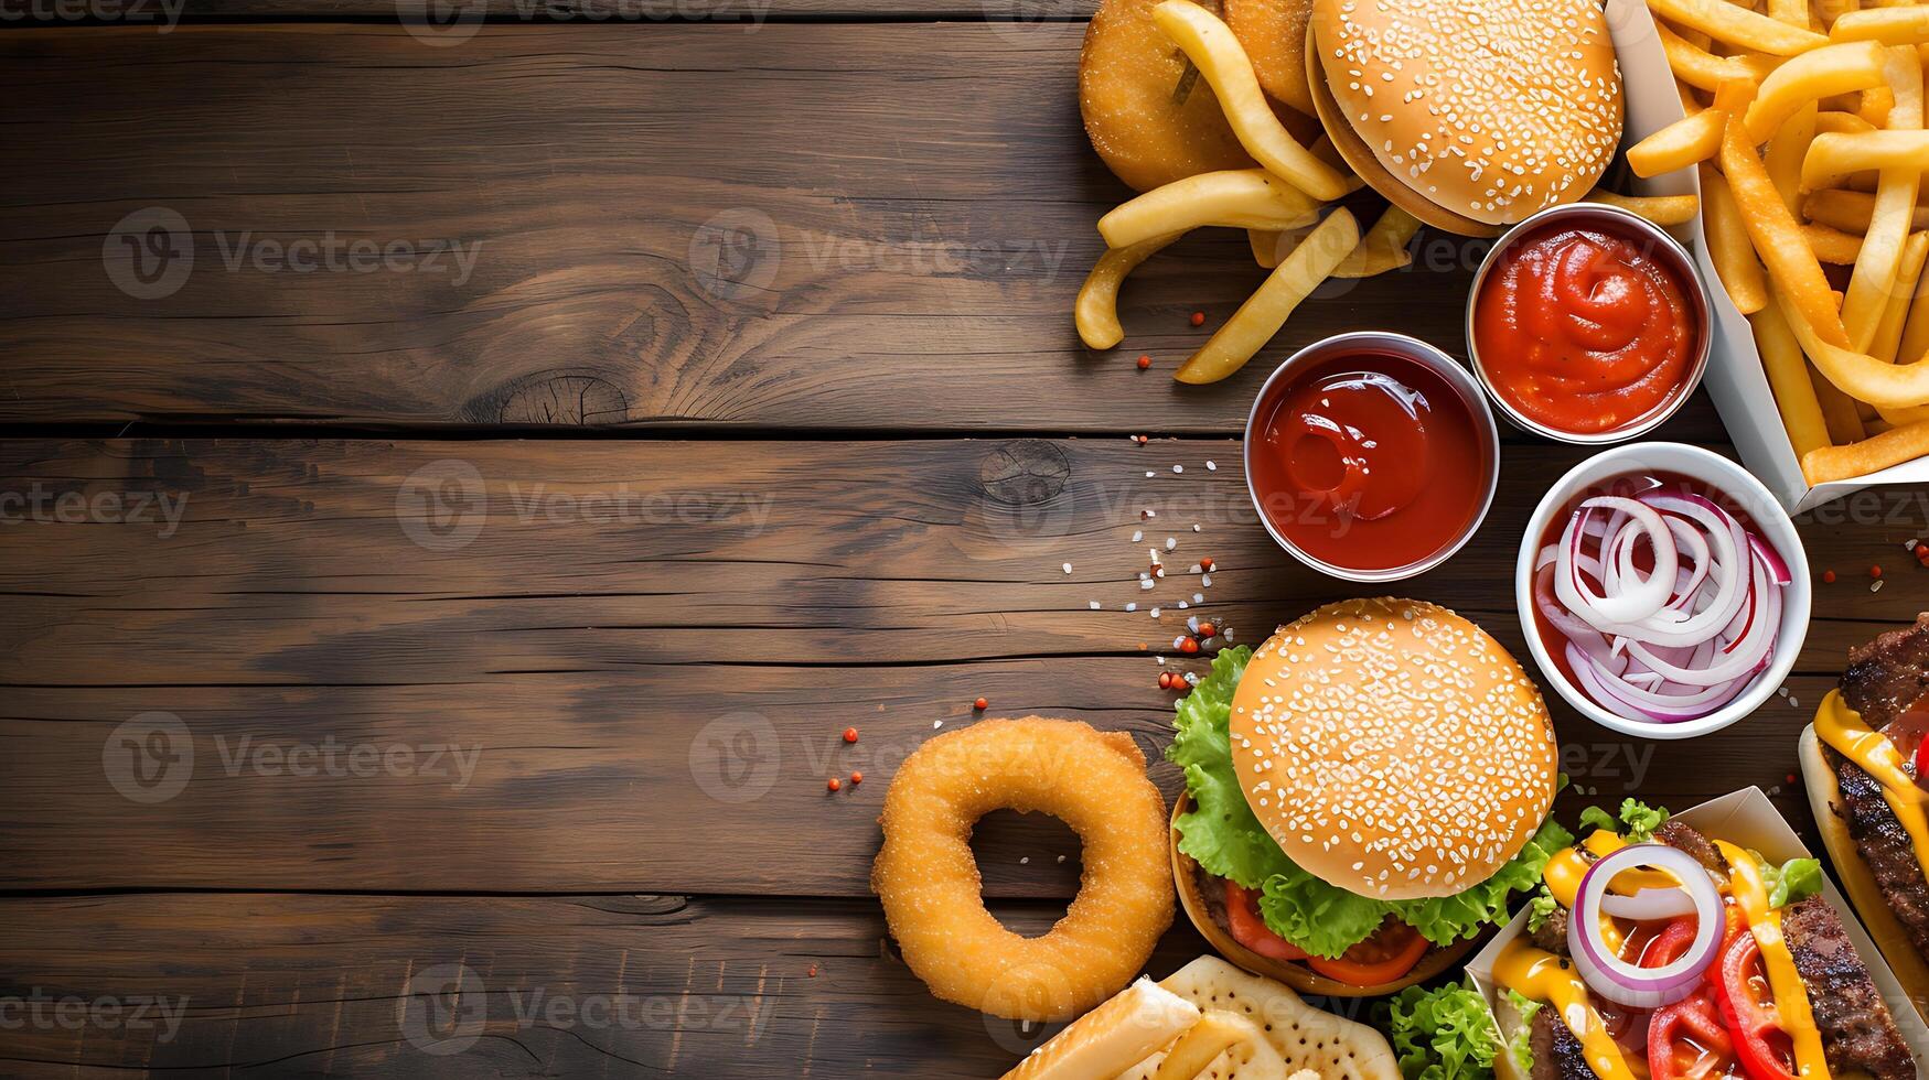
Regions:
<instances>
[{"instance_id":1,"label":"silver metal rim of ramekin holding the brighter, swirled tomato sauce","mask_svg":"<svg viewBox=\"0 0 1929 1080\"><path fill-rule=\"evenodd\" d=\"M1570 222L1576 226L1584 226L1588 222L1613 222L1615 226L1620 226L1622 231L1632 233L1638 243L1647 241L1651 245L1647 253L1667 262L1669 268L1672 268L1680 278L1682 291L1688 295L1688 310L1699 326L1699 343L1696 345L1694 364L1688 370L1688 380L1680 392L1676 392L1653 413L1611 432L1564 432L1524 417L1505 397L1501 397L1491 382L1487 382L1487 372L1480 363L1480 345L1474 341L1474 309L1480 303L1480 289L1487 284L1487 272L1493 268L1495 260L1503 251L1518 243L1528 233L1559 222ZM1707 285L1701 282L1701 274L1696 270L1694 258L1688 255L1688 249L1680 245L1680 241L1671 237L1661 226L1642 218L1640 214L1630 214L1620 206L1609 206L1605 202L1568 202L1564 206L1549 206L1507 230L1493 249L1487 251L1487 256L1480 260L1480 270L1474 274L1474 287L1466 293L1466 355L1474 361L1474 374L1480 378L1480 386L1487 392L1487 397L1493 399L1495 409L1499 409L1516 428L1574 446L1609 446L1655 430L1667 422L1669 417L1678 413L1690 397L1694 397L1696 388L1701 386L1701 376L1707 372L1707 357L1715 341L1713 318L1715 314L1709 307Z\"/></svg>"}]
</instances>

